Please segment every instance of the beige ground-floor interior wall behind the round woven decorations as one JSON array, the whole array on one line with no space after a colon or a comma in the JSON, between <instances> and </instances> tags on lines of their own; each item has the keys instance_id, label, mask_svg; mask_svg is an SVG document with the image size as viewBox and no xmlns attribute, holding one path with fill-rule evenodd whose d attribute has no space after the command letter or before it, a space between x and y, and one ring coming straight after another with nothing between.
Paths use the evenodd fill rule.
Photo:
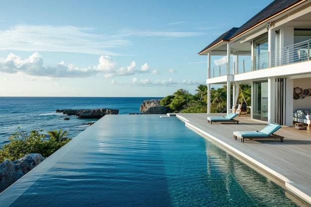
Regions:
<instances>
[{"instance_id":1,"label":"beige ground-floor interior wall behind the round woven decorations","mask_svg":"<svg viewBox=\"0 0 311 207\"><path fill-rule=\"evenodd\" d=\"M299 87L304 89L311 88L311 78L298 78L294 79L294 88ZM294 97L294 89L293 89L293 97ZM294 99L294 98L293 98ZM306 96L304 99L294 99L293 103L294 110L296 109L311 109L311 96Z\"/></svg>"}]
</instances>

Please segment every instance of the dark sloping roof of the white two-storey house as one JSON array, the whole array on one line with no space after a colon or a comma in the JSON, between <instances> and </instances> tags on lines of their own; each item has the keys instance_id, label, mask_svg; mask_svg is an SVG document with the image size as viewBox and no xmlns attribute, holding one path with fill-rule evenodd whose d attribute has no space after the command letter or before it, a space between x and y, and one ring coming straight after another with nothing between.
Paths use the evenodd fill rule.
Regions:
<instances>
[{"instance_id":1,"label":"dark sloping roof of the white two-storey house","mask_svg":"<svg viewBox=\"0 0 311 207\"><path fill-rule=\"evenodd\" d=\"M257 23L262 22L266 19L269 19L269 17L279 13L280 11L292 6L293 4L295 4L299 1L304 1L304 0L274 0L272 3L270 3L264 9L262 9L259 13L257 13L255 16L253 16L251 19L249 19L247 22L245 22L239 28L233 27L231 30L222 34L215 41L213 41L210 45L208 45L206 48L204 48L202 51L200 51L199 54L204 52L205 50L213 47L214 45L216 45L220 41L229 41L231 38L238 36L239 34L243 33L244 31L252 28Z\"/></svg>"}]
</instances>

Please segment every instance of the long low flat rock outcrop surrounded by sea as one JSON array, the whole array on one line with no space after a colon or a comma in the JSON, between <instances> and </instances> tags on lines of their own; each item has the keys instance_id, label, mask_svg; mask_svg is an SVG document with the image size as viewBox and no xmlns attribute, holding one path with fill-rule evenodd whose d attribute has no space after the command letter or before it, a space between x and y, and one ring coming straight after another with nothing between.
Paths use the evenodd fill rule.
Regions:
<instances>
[{"instance_id":1,"label":"long low flat rock outcrop surrounded by sea","mask_svg":"<svg viewBox=\"0 0 311 207\"><path fill-rule=\"evenodd\" d=\"M117 109L57 109L56 112L78 116L78 118L101 118L106 114L119 114Z\"/></svg>"}]
</instances>

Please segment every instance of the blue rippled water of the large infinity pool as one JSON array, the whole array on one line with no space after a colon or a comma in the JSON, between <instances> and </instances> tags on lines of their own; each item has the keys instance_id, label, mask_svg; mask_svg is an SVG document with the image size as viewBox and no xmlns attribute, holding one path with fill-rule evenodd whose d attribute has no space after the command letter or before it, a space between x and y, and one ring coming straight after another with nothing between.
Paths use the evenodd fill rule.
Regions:
<instances>
[{"instance_id":1,"label":"blue rippled water of the large infinity pool","mask_svg":"<svg viewBox=\"0 0 311 207\"><path fill-rule=\"evenodd\" d=\"M1 207L296 207L177 118L108 115L0 194Z\"/></svg>"}]
</instances>

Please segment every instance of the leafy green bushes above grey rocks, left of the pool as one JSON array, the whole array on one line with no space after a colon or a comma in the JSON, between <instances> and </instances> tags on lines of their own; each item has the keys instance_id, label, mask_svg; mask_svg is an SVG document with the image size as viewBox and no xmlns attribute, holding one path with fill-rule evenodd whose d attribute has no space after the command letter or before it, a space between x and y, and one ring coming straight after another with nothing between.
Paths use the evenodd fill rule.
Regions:
<instances>
[{"instance_id":1,"label":"leafy green bushes above grey rocks, left of the pool","mask_svg":"<svg viewBox=\"0 0 311 207\"><path fill-rule=\"evenodd\" d=\"M4 159L17 160L29 153L40 153L43 157L48 157L71 140L66 137L68 132L63 132L62 129L47 132L48 135L43 134L42 131L32 130L28 135L18 129L9 136L10 142L0 148L0 162Z\"/></svg>"}]
</instances>

